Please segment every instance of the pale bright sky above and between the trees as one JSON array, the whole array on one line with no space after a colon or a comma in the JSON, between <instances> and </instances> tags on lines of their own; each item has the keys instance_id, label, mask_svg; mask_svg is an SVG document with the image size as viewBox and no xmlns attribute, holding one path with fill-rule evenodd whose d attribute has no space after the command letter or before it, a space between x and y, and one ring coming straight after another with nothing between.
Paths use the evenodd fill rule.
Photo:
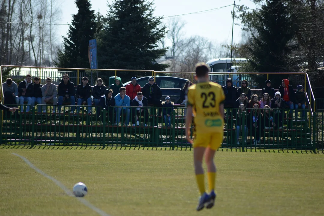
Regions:
<instances>
[{"instance_id":1,"label":"pale bright sky above and between the trees","mask_svg":"<svg viewBox=\"0 0 324 216\"><path fill-rule=\"evenodd\" d=\"M58 0L61 2L62 16L60 23L71 23L71 14L77 13L74 0ZM109 0L111 3L112 0ZM107 14L107 1L106 0L91 0L92 9L101 14ZM203 11L222 6L233 4L233 1L227 0L155 0L155 15L156 16L173 16L197 11ZM237 0L235 4L245 5L251 9L255 5L250 0ZM186 23L184 32L186 37L193 35L200 35L208 38L209 40L221 43L230 44L232 37L232 16L233 5L225 8L207 11L198 14L190 14L179 16L179 18ZM165 18L165 22L168 22ZM238 23L239 20L235 20ZM58 34L66 36L68 26L58 26ZM233 42L237 43L241 39L241 29L239 26L234 25Z\"/></svg>"}]
</instances>

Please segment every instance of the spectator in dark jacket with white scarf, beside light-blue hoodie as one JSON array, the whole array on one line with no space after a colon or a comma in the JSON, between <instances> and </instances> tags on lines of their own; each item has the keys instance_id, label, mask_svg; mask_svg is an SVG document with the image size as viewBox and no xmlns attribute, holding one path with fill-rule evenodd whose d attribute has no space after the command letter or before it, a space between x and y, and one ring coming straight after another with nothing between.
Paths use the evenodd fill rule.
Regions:
<instances>
[{"instance_id":1,"label":"spectator in dark jacket with white scarf, beside light-blue hoodie","mask_svg":"<svg viewBox=\"0 0 324 216\"><path fill-rule=\"evenodd\" d=\"M136 125L139 126L139 121L138 118L141 116L144 116L144 122L145 122L145 127L147 126L148 122L148 109L147 107L147 98L143 96L142 92L137 92L136 97L133 99L132 102L133 108L133 113L132 113L132 122L133 126L135 126L135 121ZM136 107L136 108L135 108Z\"/></svg>"}]
</instances>

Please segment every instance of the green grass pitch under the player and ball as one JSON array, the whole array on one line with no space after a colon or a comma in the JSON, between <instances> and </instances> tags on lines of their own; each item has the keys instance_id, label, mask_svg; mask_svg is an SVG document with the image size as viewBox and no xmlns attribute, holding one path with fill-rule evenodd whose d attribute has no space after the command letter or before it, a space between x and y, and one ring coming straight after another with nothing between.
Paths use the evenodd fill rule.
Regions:
<instances>
[{"instance_id":1,"label":"green grass pitch under the player and ball","mask_svg":"<svg viewBox=\"0 0 324 216\"><path fill-rule=\"evenodd\" d=\"M192 151L37 148L0 148L0 215L98 215L12 153L111 216L324 215L324 154L219 151L215 206L196 212Z\"/></svg>"}]
</instances>

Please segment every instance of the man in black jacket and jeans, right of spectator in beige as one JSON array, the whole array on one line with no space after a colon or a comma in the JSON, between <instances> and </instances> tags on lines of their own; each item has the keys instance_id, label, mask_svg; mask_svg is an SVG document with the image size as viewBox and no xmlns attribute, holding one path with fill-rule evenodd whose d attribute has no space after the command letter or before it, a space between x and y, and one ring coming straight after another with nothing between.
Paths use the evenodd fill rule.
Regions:
<instances>
[{"instance_id":1,"label":"man in black jacket and jeans, right of spectator in beige","mask_svg":"<svg viewBox=\"0 0 324 216\"><path fill-rule=\"evenodd\" d=\"M71 113L74 112L75 109L75 88L74 83L70 82L70 78L68 74L63 74L63 79L58 86L58 105L62 105L63 101L69 100L71 103ZM59 112L61 112L61 106L58 107Z\"/></svg>"}]
</instances>

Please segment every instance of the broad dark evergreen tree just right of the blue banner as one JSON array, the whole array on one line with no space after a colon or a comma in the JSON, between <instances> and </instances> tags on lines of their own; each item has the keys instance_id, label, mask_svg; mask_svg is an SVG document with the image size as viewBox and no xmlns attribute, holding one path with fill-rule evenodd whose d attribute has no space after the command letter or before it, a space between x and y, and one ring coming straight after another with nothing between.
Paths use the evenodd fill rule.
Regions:
<instances>
[{"instance_id":1,"label":"broad dark evergreen tree just right of the blue banner","mask_svg":"<svg viewBox=\"0 0 324 216\"><path fill-rule=\"evenodd\" d=\"M146 0L115 0L108 3L110 10L105 17L105 26L97 37L98 65L105 69L137 69L164 71L168 64L158 64L167 48L159 49L158 42L166 34L161 26L161 17L154 17L153 3ZM113 74L101 73L106 83ZM132 76L149 74L118 72L123 80Z\"/></svg>"}]
</instances>

